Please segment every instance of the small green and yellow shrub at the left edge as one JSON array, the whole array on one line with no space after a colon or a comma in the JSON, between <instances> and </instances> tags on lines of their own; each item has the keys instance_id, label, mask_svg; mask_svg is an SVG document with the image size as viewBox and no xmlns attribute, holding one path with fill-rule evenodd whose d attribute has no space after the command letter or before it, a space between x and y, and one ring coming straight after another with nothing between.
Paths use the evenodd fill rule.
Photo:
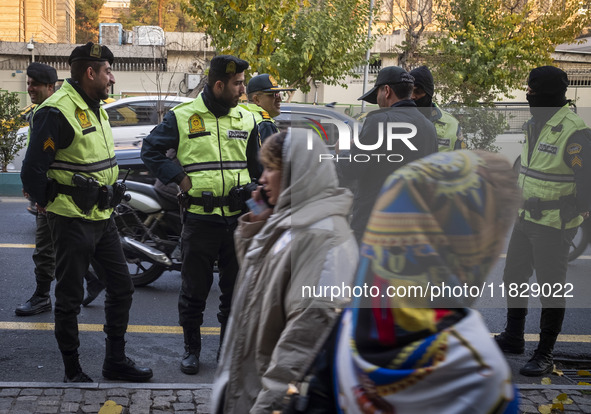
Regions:
<instances>
[{"instance_id":1,"label":"small green and yellow shrub at the left edge","mask_svg":"<svg viewBox=\"0 0 591 414\"><path fill-rule=\"evenodd\" d=\"M15 92L0 91L0 166L2 172L25 146L26 137L17 131L25 125L20 117L20 100Z\"/></svg>"}]
</instances>

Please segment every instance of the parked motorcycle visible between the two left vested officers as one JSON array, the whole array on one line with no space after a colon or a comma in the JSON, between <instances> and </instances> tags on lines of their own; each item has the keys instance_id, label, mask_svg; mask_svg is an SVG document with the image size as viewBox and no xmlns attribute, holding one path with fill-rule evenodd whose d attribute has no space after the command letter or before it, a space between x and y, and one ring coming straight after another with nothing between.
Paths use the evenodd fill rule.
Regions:
<instances>
[{"instance_id":1,"label":"parked motorcycle visible between the two left vested officers","mask_svg":"<svg viewBox=\"0 0 591 414\"><path fill-rule=\"evenodd\" d=\"M179 206L153 185L127 181L131 196L115 209L115 223L134 286L146 286L164 271L180 270Z\"/></svg>"}]
</instances>

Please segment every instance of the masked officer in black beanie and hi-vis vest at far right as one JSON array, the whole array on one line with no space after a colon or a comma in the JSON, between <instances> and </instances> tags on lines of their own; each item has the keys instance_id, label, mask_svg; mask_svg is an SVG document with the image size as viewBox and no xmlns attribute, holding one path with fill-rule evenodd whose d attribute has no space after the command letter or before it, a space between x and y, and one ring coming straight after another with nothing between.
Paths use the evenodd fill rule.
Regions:
<instances>
[{"instance_id":1,"label":"masked officer in black beanie and hi-vis vest at far right","mask_svg":"<svg viewBox=\"0 0 591 414\"><path fill-rule=\"evenodd\" d=\"M565 314L568 251L577 227L591 206L591 130L566 100L568 78L553 67L533 69L527 100L532 118L525 125L519 186L525 200L513 228L503 281L507 324L495 337L506 353L522 354L528 300L522 295L533 271L540 287L540 342L519 371L540 376L552 372L552 352ZM524 297L525 296L525 297Z\"/></svg>"}]
</instances>

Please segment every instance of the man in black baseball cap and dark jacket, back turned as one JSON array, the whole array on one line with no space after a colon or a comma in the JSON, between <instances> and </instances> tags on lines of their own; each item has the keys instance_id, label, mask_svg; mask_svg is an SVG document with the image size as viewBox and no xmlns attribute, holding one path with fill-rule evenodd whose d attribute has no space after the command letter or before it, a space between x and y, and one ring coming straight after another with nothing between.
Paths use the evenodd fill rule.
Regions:
<instances>
[{"instance_id":1,"label":"man in black baseball cap and dark jacket, back turned","mask_svg":"<svg viewBox=\"0 0 591 414\"><path fill-rule=\"evenodd\" d=\"M437 152L437 135L433 124L417 109L411 99L413 77L398 66L388 66L380 70L375 86L359 100L380 106L380 109L367 115L359 135L359 143L376 146L376 149L360 149L352 143L350 161L346 155L339 154L337 167L345 180L357 181L358 189L353 201L351 228L360 242L365 226L373 209L375 200L384 180L397 168L411 161ZM406 123L416 127L416 134L408 141L388 140L392 134L408 134L409 128L391 128L389 123ZM412 146L411 148L409 146ZM389 146L391 147L389 148Z\"/></svg>"}]
</instances>

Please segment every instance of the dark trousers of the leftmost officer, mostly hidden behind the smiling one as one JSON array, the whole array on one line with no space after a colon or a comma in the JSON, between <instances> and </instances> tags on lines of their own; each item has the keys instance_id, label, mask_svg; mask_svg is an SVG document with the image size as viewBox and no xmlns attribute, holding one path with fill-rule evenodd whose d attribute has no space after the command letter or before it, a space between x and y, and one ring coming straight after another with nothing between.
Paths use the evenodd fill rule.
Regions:
<instances>
[{"instance_id":1,"label":"dark trousers of the leftmost officer, mostly hidden behind the smiling one","mask_svg":"<svg viewBox=\"0 0 591 414\"><path fill-rule=\"evenodd\" d=\"M35 250L33 251L33 262L35 263L35 280L37 281L36 294L49 296L51 282L55 278L55 252L53 251L53 240L51 229L47 221L47 215L37 213L37 230L35 231ZM94 270L99 273L100 266L93 261ZM90 283L97 277L90 271L84 273L86 283Z\"/></svg>"}]
</instances>

